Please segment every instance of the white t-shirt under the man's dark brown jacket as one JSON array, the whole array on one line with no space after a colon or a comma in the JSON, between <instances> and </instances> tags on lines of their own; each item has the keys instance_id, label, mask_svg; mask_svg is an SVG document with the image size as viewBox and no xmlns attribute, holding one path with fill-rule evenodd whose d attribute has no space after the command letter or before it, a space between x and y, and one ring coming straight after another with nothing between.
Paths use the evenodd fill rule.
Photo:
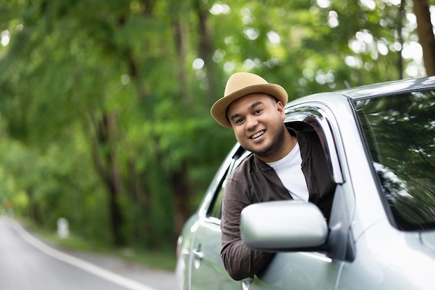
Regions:
<instances>
[{"instance_id":1,"label":"white t-shirt under the man's dark brown jacket","mask_svg":"<svg viewBox=\"0 0 435 290\"><path fill-rule=\"evenodd\" d=\"M304 173L302 172L302 158L299 143L283 159L269 162L294 200L308 202L309 193Z\"/></svg>"}]
</instances>

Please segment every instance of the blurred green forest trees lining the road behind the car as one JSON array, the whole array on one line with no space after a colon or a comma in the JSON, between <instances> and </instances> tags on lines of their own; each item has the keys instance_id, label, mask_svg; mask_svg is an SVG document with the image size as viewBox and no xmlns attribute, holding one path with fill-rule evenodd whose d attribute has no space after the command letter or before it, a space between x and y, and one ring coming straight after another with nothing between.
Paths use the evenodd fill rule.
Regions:
<instances>
[{"instance_id":1,"label":"blurred green forest trees lining the road behind the car","mask_svg":"<svg viewBox=\"0 0 435 290\"><path fill-rule=\"evenodd\" d=\"M209 113L229 75L290 99L432 75L432 5L0 0L0 212L173 250L235 143Z\"/></svg>"}]
</instances>

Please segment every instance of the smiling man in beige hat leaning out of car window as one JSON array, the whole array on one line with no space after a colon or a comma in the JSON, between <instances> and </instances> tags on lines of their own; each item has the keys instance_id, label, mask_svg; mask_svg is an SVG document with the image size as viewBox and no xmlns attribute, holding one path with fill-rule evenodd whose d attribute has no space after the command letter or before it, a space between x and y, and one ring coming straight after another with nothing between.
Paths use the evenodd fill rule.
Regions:
<instances>
[{"instance_id":1,"label":"smiling man in beige hat leaning out of car window","mask_svg":"<svg viewBox=\"0 0 435 290\"><path fill-rule=\"evenodd\" d=\"M286 128L286 90L261 76L240 72L227 81L224 97L211 115L231 128L238 143L252 152L233 171L222 200L221 257L234 280L252 277L273 255L247 248L240 237L240 212L255 202L304 200L329 218L335 184L322 144L312 129Z\"/></svg>"}]
</instances>

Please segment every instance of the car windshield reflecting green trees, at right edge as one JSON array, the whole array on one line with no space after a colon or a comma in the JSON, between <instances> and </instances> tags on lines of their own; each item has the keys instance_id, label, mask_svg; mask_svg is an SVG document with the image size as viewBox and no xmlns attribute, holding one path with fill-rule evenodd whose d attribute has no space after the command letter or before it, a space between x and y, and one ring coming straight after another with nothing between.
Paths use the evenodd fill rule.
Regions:
<instances>
[{"instance_id":1,"label":"car windshield reflecting green trees, at right edge","mask_svg":"<svg viewBox=\"0 0 435 290\"><path fill-rule=\"evenodd\" d=\"M354 102L397 228L435 229L435 91Z\"/></svg>"}]
</instances>

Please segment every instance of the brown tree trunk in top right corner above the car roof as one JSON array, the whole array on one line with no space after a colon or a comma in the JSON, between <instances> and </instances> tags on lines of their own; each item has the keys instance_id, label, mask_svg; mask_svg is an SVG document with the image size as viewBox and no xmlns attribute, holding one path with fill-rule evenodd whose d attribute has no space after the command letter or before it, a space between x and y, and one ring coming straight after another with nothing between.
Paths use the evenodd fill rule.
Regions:
<instances>
[{"instance_id":1,"label":"brown tree trunk in top right corner above the car roof","mask_svg":"<svg viewBox=\"0 0 435 290\"><path fill-rule=\"evenodd\" d=\"M413 10L417 17L417 34L423 49L426 74L435 75L435 38L427 0L413 0Z\"/></svg>"}]
</instances>

